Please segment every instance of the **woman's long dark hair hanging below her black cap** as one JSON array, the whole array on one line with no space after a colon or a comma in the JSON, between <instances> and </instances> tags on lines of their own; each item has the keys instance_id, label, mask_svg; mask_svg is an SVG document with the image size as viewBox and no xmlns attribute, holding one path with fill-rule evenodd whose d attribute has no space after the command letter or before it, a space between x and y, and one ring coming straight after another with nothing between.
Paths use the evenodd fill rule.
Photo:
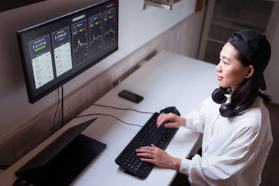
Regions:
<instances>
[{"instance_id":1,"label":"woman's long dark hair hanging below her black cap","mask_svg":"<svg viewBox=\"0 0 279 186\"><path fill-rule=\"evenodd\" d=\"M252 65L245 56L240 54L240 52L236 50L236 59L238 59L243 67L248 67L248 65ZM257 77L257 66L252 65L254 67L254 73L250 78L245 79L242 84L234 90L231 97L231 102L236 106L241 104L248 104L249 107L255 102L255 99L259 96L261 97L266 104L271 101L271 96L263 94L259 91L258 77Z\"/></svg>"}]
</instances>

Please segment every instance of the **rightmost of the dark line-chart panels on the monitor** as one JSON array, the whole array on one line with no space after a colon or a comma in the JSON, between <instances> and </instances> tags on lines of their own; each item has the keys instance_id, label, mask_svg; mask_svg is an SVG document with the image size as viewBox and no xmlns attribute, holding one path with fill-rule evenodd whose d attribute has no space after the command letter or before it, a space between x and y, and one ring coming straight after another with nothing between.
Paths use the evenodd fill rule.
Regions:
<instances>
[{"instance_id":1,"label":"rightmost of the dark line-chart panels on the monitor","mask_svg":"<svg viewBox=\"0 0 279 186\"><path fill-rule=\"evenodd\" d=\"M104 47L114 45L115 40L115 8L106 10L104 13Z\"/></svg>"}]
</instances>

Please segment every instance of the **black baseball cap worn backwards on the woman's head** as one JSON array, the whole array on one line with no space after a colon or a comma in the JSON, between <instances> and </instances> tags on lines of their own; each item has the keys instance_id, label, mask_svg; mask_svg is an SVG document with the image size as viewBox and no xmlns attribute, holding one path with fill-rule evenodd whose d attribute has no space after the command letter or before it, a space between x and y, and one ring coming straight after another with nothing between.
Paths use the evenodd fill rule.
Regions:
<instances>
[{"instance_id":1,"label":"black baseball cap worn backwards on the woman's head","mask_svg":"<svg viewBox=\"0 0 279 186\"><path fill-rule=\"evenodd\" d=\"M259 88L265 91L264 70L271 57L271 46L266 36L252 30L236 31L227 42L230 42L252 65L255 65L258 71Z\"/></svg>"}]
</instances>

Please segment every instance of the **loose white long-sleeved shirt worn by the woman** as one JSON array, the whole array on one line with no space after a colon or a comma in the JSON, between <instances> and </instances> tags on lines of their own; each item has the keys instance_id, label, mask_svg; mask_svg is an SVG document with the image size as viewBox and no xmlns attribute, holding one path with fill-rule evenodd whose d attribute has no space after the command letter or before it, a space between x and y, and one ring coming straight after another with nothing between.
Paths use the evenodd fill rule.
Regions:
<instances>
[{"instance_id":1,"label":"loose white long-sleeved shirt worn by the woman","mask_svg":"<svg viewBox=\"0 0 279 186\"><path fill-rule=\"evenodd\" d=\"M186 127L203 133L202 157L183 159L179 171L191 185L259 185L273 141L269 111L262 98L230 118L219 107L210 97L185 116Z\"/></svg>"}]
</instances>

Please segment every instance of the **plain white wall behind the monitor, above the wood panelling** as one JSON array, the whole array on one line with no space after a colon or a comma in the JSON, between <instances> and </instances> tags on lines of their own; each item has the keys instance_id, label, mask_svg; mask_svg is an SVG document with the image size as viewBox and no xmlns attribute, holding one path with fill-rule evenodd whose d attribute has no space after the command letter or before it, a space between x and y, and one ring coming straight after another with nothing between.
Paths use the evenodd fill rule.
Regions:
<instances>
[{"instance_id":1,"label":"plain white wall behind the monitor, above the wood panelling","mask_svg":"<svg viewBox=\"0 0 279 186\"><path fill-rule=\"evenodd\" d=\"M100 61L64 86L65 94L98 75L195 10L195 0L183 0L173 10L147 6L144 0L119 0L119 51ZM30 104L17 45L16 31L69 13L90 0L48 0L0 13L0 137L27 122L57 100L56 91Z\"/></svg>"}]
</instances>

